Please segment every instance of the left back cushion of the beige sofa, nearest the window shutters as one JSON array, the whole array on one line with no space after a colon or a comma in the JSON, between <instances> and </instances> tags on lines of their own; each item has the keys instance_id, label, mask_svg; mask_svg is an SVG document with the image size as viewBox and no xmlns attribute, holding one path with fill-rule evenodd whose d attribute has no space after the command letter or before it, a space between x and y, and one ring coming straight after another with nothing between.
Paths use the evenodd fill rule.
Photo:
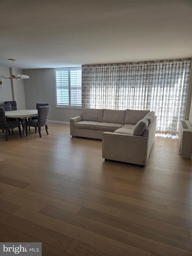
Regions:
<instances>
[{"instance_id":1,"label":"left back cushion of the beige sofa, nearest the window shutters","mask_svg":"<svg viewBox=\"0 0 192 256\"><path fill-rule=\"evenodd\" d=\"M102 122L104 109L81 108L82 121Z\"/></svg>"}]
</instances>

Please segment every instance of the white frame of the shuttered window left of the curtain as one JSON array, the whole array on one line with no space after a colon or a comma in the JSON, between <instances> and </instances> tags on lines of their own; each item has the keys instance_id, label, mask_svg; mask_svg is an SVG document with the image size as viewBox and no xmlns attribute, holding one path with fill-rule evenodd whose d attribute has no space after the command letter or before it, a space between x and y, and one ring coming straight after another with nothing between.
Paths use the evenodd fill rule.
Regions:
<instances>
[{"instance_id":1,"label":"white frame of the shuttered window left of the curtain","mask_svg":"<svg viewBox=\"0 0 192 256\"><path fill-rule=\"evenodd\" d=\"M68 105L62 105L59 104L57 102L57 84L56 84L56 71L57 70L64 70L64 69L68 69L68 99L69 99L69 104ZM55 107L58 108L70 108L70 109L80 109L82 107L82 103L81 105L72 105L71 104L71 84L70 84L70 71L71 70L81 70L82 68L80 67L66 67L66 68L55 68L54 69L54 74L55 74ZM81 88L82 88L82 84L81 84Z\"/></svg>"}]
</instances>

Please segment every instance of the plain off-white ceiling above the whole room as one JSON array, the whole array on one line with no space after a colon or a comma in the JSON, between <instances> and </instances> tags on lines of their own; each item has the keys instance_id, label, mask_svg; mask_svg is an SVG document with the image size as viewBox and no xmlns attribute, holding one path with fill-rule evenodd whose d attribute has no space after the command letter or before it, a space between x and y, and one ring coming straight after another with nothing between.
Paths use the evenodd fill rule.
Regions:
<instances>
[{"instance_id":1,"label":"plain off-white ceiling above the whole room","mask_svg":"<svg viewBox=\"0 0 192 256\"><path fill-rule=\"evenodd\" d=\"M1 0L0 66L192 56L192 0Z\"/></svg>"}]
</instances>

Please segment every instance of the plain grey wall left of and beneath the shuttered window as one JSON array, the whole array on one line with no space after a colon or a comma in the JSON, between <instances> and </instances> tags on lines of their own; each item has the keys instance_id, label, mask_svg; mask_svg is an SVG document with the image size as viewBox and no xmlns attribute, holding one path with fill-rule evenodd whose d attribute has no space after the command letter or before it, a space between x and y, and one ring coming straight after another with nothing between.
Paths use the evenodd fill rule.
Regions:
<instances>
[{"instance_id":1,"label":"plain grey wall left of and beneath the shuttered window","mask_svg":"<svg viewBox=\"0 0 192 256\"><path fill-rule=\"evenodd\" d=\"M26 109L35 109L36 103L49 103L49 120L69 122L70 118L79 116L79 109L55 107L54 68L28 69L24 74L30 77L24 79Z\"/></svg>"}]
</instances>

